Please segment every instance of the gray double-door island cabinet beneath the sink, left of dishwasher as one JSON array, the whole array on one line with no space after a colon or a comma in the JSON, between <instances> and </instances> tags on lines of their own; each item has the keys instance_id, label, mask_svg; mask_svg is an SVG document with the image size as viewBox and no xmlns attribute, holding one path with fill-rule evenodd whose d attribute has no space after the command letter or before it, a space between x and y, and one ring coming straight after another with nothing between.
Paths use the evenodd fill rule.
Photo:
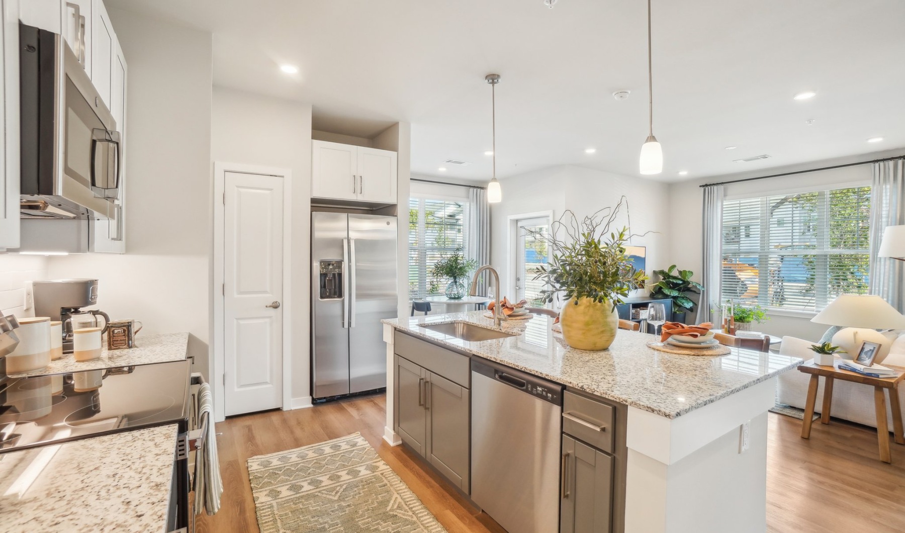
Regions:
<instances>
[{"instance_id":1,"label":"gray double-door island cabinet beneath the sink, left of dishwasher","mask_svg":"<svg viewBox=\"0 0 905 533\"><path fill-rule=\"evenodd\" d=\"M466 494L472 470L468 364L458 352L395 334L395 431Z\"/></svg>"}]
</instances>

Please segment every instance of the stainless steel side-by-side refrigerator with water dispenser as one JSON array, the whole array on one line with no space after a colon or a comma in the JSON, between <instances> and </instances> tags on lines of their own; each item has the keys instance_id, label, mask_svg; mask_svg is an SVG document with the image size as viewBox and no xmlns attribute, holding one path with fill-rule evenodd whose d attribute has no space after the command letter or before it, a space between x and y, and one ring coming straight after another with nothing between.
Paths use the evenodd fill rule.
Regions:
<instances>
[{"instance_id":1,"label":"stainless steel side-by-side refrigerator with water dispenser","mask_svg":"<svg viewBox=\"0 0 905 533\"><path fill-rule=\"evenodd\" d=\"M311 273L311 395L386 387L380 320L396 317L396 217L312 213Z\"/></svg>"}]
</instances>

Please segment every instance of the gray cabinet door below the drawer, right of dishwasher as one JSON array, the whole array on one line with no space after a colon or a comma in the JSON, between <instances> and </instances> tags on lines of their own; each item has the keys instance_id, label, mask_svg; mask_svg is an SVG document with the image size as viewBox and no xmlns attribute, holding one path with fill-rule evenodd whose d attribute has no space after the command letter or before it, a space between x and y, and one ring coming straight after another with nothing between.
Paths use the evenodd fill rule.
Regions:
<instances>
[{"instance_id":1,"label":"gray cabinet door below the drawer, right of dishwasher","mask_svg":"<svg viewBox=\"0 0 905 533\"><path fill-rule=\"evenodd\" d=\"M560 533L609 533L613 456L563 435Z\"/></svg>"}]
</instances>

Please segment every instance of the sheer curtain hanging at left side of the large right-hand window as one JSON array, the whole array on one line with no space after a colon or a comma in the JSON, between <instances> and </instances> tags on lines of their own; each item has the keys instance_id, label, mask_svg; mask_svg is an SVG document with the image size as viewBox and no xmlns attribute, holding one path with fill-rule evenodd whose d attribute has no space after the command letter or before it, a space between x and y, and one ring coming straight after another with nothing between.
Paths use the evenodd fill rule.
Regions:
<instances>
[{"instance_id":1,"label":"sheer curtain hanging at left side of the large right-hand window","mask_svg":"<svg viewBox=\"0 0 905 533\"><path fill-rule=\"evenodd\" d=\"M704 290L698 302L698 323L710 322L710 302L719 305L719 280L722 271L723 186L704 187L703 271L700 279ZM718 308L719 309L719 308Z\"/></svg>"}]
</instances>

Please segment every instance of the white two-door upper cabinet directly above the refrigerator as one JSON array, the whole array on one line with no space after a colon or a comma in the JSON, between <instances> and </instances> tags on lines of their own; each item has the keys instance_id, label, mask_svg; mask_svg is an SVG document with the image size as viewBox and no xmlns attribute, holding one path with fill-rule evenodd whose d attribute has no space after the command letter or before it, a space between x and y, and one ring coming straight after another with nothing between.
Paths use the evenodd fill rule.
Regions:
<instances>
[{"instance_id":1,"label":"white two-door upper cabinet directly above the refrigerator","mask_svg":"<svg viewBox=\"0 0 905 533\"><path fill-rule=\"evenodd\" d=\"M311 142L311 196L396 203L396 153L336 142Z\"/></svg>"}]
</instances>

